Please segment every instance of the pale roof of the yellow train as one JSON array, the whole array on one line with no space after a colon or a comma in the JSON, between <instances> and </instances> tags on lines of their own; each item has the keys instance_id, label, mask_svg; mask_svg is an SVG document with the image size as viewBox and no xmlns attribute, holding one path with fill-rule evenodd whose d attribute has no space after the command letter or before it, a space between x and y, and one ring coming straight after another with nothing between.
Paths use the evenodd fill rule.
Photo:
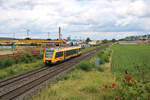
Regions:
<instances>
[{"instance_id":1,"label":"pale roof of the yellow train","mask_svg":"<svg viewBox=\"0 0 150 100\"><path fill-rule=\"evenodd\" d=\"M79 49L81 46L72 46L72 47L55 47L55 48L47 48L49 50L55 50L55 51L67 51L72 49Z\"/></svg>"}]
</instances>

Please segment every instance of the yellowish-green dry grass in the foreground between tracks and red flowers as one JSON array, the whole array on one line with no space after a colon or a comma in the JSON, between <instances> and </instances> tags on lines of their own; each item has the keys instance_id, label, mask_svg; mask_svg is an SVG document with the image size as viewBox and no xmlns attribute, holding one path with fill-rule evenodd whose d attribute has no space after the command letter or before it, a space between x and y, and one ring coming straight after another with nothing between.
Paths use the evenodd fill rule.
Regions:
<instances>
[{"instance_id":1,"label":"yellowish-green dry grass in the foreground between tracks and red flowers","mask_svg":"<svg viewBox=\"0 0 150 100\"><path fill-rule=\"evenodd\" d=\"M67 79L45 88L32 100L111 100L113 90L108 91L104 86L113 82L115 78L109 68L105 68L105 72L76 69Z\"/></svg>"}]
</instances>

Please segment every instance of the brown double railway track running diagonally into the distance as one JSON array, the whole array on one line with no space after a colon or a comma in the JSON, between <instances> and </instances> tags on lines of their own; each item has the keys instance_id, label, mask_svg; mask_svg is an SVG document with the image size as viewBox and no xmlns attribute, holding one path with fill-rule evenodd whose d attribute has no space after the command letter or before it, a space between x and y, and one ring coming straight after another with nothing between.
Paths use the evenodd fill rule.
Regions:
<instances>
[{"instance_id":1,"label":"brown double railway track running diagonally into the distance","mask_svg":"<svg viewBox=\"0 0 150 100\"><path fill-rule=\"evenodd\" d=\"M0 100L22 100L28 99L28 94L40 88L44 82L51 83L56 78L74 69L76 63L92 57L97 51L106 48L108 45L83 53L54 67L41 67L32 71L24 72L14 77L0 81Z\"/></svg>"}]
</instances>

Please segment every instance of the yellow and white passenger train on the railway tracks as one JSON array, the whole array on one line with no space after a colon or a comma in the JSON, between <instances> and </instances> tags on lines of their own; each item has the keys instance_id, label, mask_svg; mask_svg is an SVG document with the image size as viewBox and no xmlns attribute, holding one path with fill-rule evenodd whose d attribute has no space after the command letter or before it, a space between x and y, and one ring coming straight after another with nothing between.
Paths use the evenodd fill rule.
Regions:
<instances>
[{"instance_id":1,"label":"yellow and white passenger train on the railway tracks","mask_svg":"<svg viewBox=\"0 0 150 100\"><path fill-rule=\"evenodd\" d=\"M44 51L43 62L45 65L55 64L65 61L75 56L81 55L81 47L64 47L64 48L46 48Z\"/></svg>"}]
</instances>

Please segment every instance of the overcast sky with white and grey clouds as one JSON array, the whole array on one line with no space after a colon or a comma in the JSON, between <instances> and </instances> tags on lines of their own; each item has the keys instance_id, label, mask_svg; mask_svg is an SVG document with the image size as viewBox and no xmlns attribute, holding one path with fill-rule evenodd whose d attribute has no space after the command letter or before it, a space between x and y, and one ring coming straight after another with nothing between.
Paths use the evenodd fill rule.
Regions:
<instances>
[{"instance_id":1,"label":"overcast sky with white and grey clouds","mask_svg":"<svg viewBox=\"0 0 150 100\"><path fill-rule=\"evenodd\" d=\"M150 0L0 0L0 37L112 39L150 33Z\"/></svg>"}]
</instances>

